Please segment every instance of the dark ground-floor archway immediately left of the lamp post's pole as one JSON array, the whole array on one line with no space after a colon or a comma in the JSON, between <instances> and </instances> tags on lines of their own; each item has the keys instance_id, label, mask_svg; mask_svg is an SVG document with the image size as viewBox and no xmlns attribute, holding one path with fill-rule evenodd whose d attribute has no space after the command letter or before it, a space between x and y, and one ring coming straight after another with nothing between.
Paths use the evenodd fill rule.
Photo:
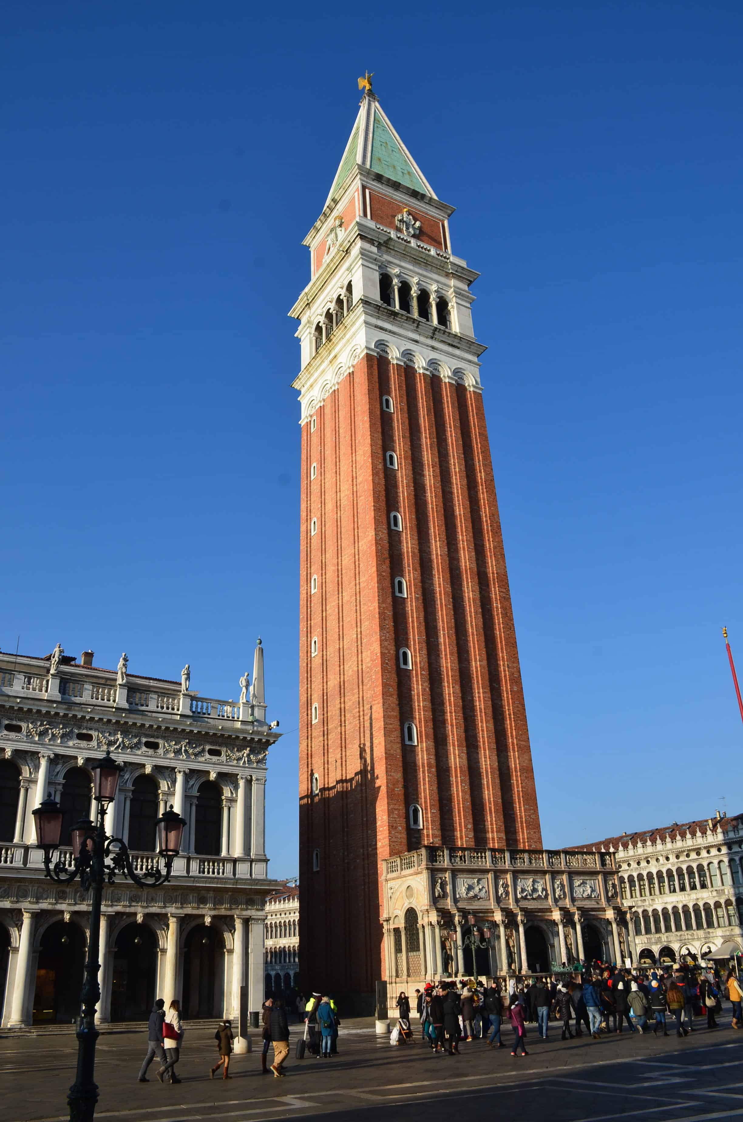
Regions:
<instances>
[{"instance_id":1,"label":"dark ground-floor archway immediately left of the lamp post's pole","mask_svg":"<svg viewBox=\"0 0 743 1122\"><path fill-rule=\"evenodd\" d=\"M76 923L57 920L42 935L34 993L34 1023L71 1022L80 1014L85 936Z\"/></svg>"}]
</instances>

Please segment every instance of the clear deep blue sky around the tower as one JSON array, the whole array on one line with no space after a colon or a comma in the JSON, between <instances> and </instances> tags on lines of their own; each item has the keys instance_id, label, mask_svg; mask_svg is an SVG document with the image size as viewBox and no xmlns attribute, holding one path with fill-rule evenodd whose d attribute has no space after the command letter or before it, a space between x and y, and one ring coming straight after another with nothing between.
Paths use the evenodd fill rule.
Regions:
<instances>
[{"instance_id":1,"label":"clear deep blue sky around the tower","mask_svg":"<svg viewBox=\"0 0 743 1122\"><path fill-rule=\"evenodd\" d=\"M0 646L236 697L260 634L296 872L286 312L368 67L483 274L545 843L743 810L740 3L255 10L3 6Z\"/></svg>"}]
</instances>

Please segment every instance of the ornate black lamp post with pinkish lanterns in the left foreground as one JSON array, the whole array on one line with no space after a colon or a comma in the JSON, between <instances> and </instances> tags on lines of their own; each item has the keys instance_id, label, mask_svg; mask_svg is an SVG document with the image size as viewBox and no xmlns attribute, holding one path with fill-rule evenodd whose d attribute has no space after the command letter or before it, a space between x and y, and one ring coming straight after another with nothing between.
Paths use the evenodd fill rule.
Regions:
<instances>
[{"instance_id":1,"label":"ornate black lamp post with pinkish lanterns in the left foreground","mask_svg":"<svg viewBox=\"0 0 743 1122\"><path fill-rule=\"evenodd\" d=\"M144 870L138 875L131 864L131 855L122 838L109 837L106 833L106 811L116 798L121 764L106 753L102 760L91 765L93 772L93 800L97 803L95 821L82 819L71 830L73 867L67 868L57 857L52 865L52 854L59 846L62 833L62 810L52 794L34 810L36 844L44 850L46 876L59 884L68 884L76 876L85 892L92 890L90 908L90 937L85 959L85 980L81 994L81 1013L77 1020L77 1072L70 1088L70 1122L92 1122L98 1102L98 1084L93 1075L95 1068L95 1006L101 997L98 984L99 947L101 936L101 901L103 884L112 884L117 874L126 874L139 888L152 888L171 879L173 861L177 857L183 838L185 820L171 807L157 819L158 856L165 858L165 868L159 864Z\"/></svg>"}]
</instances>

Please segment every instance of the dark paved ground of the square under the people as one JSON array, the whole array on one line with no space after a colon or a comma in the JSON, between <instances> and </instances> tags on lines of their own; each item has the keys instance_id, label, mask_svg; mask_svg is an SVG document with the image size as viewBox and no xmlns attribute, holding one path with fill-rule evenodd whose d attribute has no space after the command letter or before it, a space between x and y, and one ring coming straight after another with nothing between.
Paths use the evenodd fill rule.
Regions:
<instances>
[{"instance_id":1,"label":"dark paved ground of the square under the people","mask_svg":"<svg viewBox=\"0 0 743 1122\"><path fill-rule=\"evenodd\" d=\"M183 1083L137 1082L146 1031L106 1032L98 1047L100 1101L97 1119L112 1122L193 1122L229 1119L262 1122L332 1113L338 1122L359 1118L428 1120L515 1118L550 1122L609 1122L623 1115L648 1122L724 1122L743 1115L743 1034L730 1019L713 1032L699 1028L687 1039L624 1032L599 1041L583 1036L561 1042L550 1027L547 1042L529 1026L525 1058L481 1040L461 1046L461 1056L435 1056L416 1039L392 1048L368 1022L341 1027L339 1055L331 1060L294 1059L299 1028L292 1026L286 1078L260 1073L256 1050L235 1056L229 1082L210 1080L215 1061L214 1026L192 1026L178 1072ZM66 1122L67 1087L74 1079L72 1036L6 1033L0 1039L2 1122Z\"/></svg>"}]
</instances>

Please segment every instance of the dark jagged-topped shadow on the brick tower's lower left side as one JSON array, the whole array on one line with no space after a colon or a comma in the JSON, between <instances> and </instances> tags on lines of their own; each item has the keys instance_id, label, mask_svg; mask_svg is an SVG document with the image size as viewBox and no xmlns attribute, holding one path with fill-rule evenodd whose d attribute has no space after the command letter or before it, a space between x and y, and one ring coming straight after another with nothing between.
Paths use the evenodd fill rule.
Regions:
<instances>
[{"instance_id":1,"label":"dark jagged-topped shadow on the brick tower's lower left side","mask_svg":"<svg viewBox=\"0 0 743 1122\"><path fill-rule=\"evenodd\" d=\"M300 798L300 987L333 997L346 1017L374 1014L384 938L370 709L368 725L357 770Z\"/></svg>"}]
</instances>

